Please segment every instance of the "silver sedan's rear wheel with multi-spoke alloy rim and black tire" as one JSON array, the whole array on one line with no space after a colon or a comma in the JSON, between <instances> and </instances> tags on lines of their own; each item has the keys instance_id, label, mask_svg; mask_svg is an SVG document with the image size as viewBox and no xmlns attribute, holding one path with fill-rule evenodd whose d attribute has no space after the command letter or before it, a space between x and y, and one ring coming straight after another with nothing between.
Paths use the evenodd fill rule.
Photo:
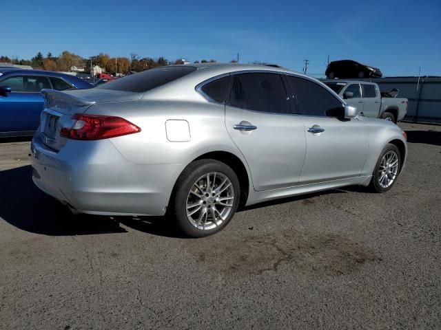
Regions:
<instances>
[{"instance_id":1,"label":"silver sedan's rear wheel with multi-spoke alloy rim and black tire","mask_svg":"<svg viewBox=\"0 0 441 330\"><path fill-rule=\"evenodd\" d=\"M214 159L189 164L174 186L170 212L187 236L223 230L237 210L240 185L234 170Z\"/></svg>"}]
</instances>

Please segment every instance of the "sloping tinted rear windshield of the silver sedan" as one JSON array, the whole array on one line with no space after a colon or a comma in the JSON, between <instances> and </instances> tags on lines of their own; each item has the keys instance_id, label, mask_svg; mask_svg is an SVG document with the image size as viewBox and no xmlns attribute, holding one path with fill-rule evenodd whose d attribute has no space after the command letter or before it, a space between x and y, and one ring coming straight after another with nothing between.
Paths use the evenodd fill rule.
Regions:
<instances>
[{"instance_id":1,"label":"sloping tinted rear windshield of the silver sedan","mask_svg":"<svg viewBox=\"0 0 441 330\"><path fill-rule=\"evenodd\" d=\"M141 93L187 76L187 74L191 74L195 70L196 67L158 67L140 72L139 74L131 74L130 76L116 79L111 84L107 83L95 88Z\"/></svg>"}]
</instances>

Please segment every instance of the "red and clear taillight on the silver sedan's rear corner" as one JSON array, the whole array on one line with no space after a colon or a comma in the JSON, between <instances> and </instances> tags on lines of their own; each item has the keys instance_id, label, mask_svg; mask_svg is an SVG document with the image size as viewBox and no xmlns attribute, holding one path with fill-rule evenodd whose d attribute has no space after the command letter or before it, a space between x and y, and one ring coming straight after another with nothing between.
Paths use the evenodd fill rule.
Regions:
<instances>
[{"instance_id":1,"label":"red and clear taillight on the silver sedan's rear corner","mask_svg":"<svg viewBox=\"0 0 441 330\"><path fill-rule=\"evenodd\" d=\"M73 140L101 140L138 132L141 132L138 126L121 117L75 113L60 135Z\"/></svg>"}]
</instances>

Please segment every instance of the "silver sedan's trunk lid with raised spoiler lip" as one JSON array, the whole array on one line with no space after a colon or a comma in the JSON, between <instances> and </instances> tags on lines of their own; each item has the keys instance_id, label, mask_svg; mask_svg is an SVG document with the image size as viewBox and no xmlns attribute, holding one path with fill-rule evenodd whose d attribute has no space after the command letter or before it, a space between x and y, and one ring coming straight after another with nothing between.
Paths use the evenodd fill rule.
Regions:
<instances>
[{"instance_id":1,"label":"silver sedan's trunk lid with raised spoiler lip","mask_svg":"<svg viewBox=\"0 0 441 330\"><path fill-rule=\"evenodd\" d=\"M127 102L138 100L143 94L108 89L81 89L74 91L55 91L42 89L44 108L40 116L37 134L43 144L59 151L65 145L65 137L60 136L63 126L72 122L72 115L85 113L94 104Z\"/></svg>"}]
</instances>

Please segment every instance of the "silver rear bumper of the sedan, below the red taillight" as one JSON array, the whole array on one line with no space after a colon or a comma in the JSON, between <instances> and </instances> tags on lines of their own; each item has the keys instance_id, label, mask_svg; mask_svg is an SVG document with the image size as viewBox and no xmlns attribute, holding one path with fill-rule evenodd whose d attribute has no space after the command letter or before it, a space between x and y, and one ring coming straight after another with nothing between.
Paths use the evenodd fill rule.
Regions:
<instances>
[{"instance_id":1,"label":"silver rear bumper of the sedan, below the red taillight","mask_svg":"<svg viewBox=\"0 0 441 330\"><path fill-rule=\"evenodd\" d=\"M36 135L32 180L76 212L163 215L181 164L131 164L110 140L69 140L52 151Z\"/></svg>"}]
</instances>

